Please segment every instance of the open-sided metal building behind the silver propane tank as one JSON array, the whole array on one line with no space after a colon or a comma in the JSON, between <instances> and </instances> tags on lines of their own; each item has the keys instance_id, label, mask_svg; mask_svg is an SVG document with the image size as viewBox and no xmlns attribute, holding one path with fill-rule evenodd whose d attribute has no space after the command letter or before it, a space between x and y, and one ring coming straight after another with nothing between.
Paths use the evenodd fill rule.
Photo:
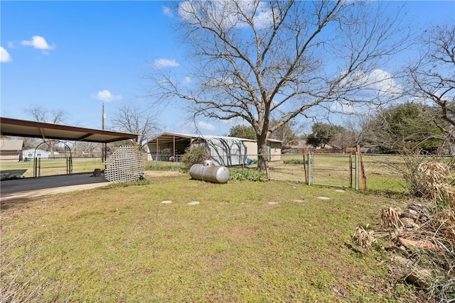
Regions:
<instances>
[{"instance_id":1,"label":"open-sided metal building behind the silver propane tank","mask_svg":"<svg viewBox=\"0 0 455 303\"><path fill-rule=\"evenodd\" d=\"M257 142L254 140L226 136L161 133L147 142L147 160L179 162L186 148L200 145L207 147L210 160L215 165L243 165L247 164L247 158L257 159ZM269 139L267 145L269 160L281 160L282 141Z\"/></svg>"}]
</instances>

